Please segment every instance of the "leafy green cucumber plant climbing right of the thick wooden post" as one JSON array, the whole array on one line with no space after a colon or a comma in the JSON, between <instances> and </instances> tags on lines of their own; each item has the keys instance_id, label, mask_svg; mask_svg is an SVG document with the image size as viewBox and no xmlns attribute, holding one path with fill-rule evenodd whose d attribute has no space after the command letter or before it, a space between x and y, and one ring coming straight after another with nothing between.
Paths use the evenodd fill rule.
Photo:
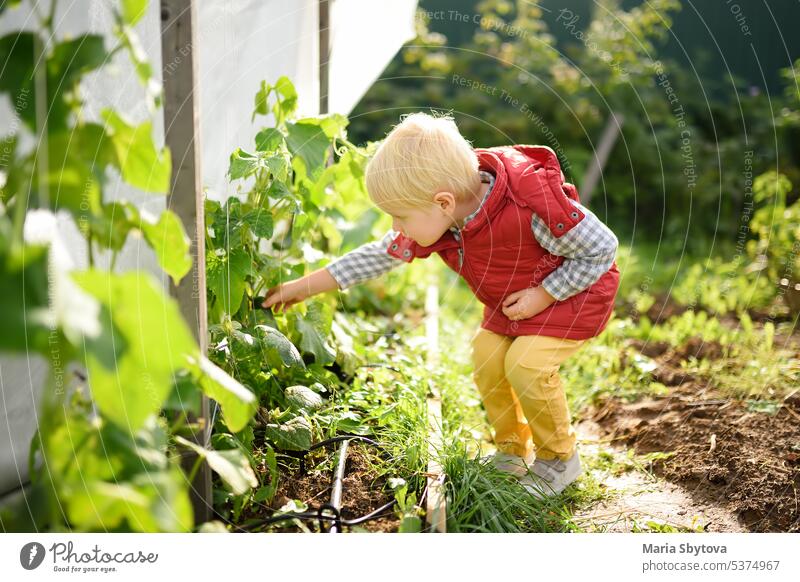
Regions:
<instances>
[{"instance_id":1,"label":"leafy green cucumber plant climbing right of the thick wooden post","mask_svg":"<svg viewBox=\"0 0 800 582\"><path fill-rule=\"evenodd\" d=\"M332 298L282 314L261 307L268 289L301 277L307 264L343 243L365 242L377 218L364 218L357 207L367 200L368 150L348 141L347 119L297 118L297 104L288 78L261 83L252 119L267 116L271 124L260 128L251 147L231 154L236 194L205 202L209 357L260 405L247 430L227 434L252 451L254 467L268 467L273 477L252 494L228 496L234 518L249 502L272 498L276 450L307 450L321 423L335 421L315 413L345 386L359 360L346 324L337 321L341 314L334 317ZM263 439L254 446L256 433Z\"/></svg>"}]
</instances>

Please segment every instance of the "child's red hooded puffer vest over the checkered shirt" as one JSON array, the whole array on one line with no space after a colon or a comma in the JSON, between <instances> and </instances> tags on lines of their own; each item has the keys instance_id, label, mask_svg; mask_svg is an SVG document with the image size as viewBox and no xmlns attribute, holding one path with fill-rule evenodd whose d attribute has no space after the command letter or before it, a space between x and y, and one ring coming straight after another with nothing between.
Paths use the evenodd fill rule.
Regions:
<instances>
[{"instance_id":1,"label":"child's red hooded puffer vest over the checkered shirt","mask_svg":"<svg viewBox=\"0 0 800 582\"><path fill-rule=\"evenodd\" d=\"M431 246L399 234L388 253L406 262L438 253L460 274L484 304L481 327L507 336L547 335L588 339L611 318L619 288L619 270L611 268L588 289L556 301L528 319L503 314L511 293L535 287L557 269L564 257L545 250L531 231L531 218L542 217L555 237L574 228L584 213L575 186L564 182L555 152L546 146L477 148L480 168L495 176L492 192L475 217L461 229L461 241L448 230Z\"/></svg>"}]
</instances>

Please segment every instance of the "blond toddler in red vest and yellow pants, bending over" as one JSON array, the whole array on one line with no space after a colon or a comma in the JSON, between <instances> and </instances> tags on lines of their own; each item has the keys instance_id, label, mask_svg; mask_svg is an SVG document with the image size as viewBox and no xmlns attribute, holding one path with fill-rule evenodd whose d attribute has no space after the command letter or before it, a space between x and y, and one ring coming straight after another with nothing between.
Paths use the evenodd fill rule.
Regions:
<instances>
[{"instance_id":1,"label":"blond toddler in red vest and yellow pants, bending over","mask_svg":"<svg viewBox=\"0 0 800 582\"><path fill-rule=\"evenodd\" d=\"M559 367L611 317L617 237L550 148L473 148L449 116L406 116L366 183L392 217L382 240L271 289L263 306L285 310L437 253L484 305L473 377L497 451L482 461L538 498L560 493L582 469Z\"/></svg>"}]
</instances>

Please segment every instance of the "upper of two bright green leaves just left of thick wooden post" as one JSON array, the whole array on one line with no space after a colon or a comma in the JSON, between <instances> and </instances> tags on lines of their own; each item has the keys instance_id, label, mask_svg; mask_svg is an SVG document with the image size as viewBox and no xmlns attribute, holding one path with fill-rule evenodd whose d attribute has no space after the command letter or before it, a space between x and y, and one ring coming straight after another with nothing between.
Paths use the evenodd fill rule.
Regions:
<instances>
[{"instance_id":1,"label":"upper of two bright green leaves just left of thick wooden post","mask_svg":"<svg viewBox=\"0 0 800 582\"><path fill-rule=\"evenodd\" d=\"M166 194L172 171L170 153L166 148L156 148L152 124L145 121L131 125L112 109L103 111L103 119L117 152L122 178L145 192Z\"/></svg>"}]
</instances>

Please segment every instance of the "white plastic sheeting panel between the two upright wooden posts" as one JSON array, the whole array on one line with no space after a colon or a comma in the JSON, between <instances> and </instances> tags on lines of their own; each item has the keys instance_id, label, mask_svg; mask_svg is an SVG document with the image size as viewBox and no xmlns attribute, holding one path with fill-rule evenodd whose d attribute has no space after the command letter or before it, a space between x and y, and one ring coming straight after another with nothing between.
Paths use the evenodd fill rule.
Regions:
<instances>
[{"instance_id":1,"label":"white plastic sheeting panel between the two upright wooden posts","mask_svg":"<svg viewBox=\"0 0 800 582\"><path fill-rule=\"evenodd\" d=\"M237 147L252 147L257 130L250 114L262 80L274 84L287 75L297 87L301 115L318 112L317 6L317 0L198 4L203 183L212 197L224 200L234 192L225 177L228 159Z\"/></svg>"}]
</instances>

